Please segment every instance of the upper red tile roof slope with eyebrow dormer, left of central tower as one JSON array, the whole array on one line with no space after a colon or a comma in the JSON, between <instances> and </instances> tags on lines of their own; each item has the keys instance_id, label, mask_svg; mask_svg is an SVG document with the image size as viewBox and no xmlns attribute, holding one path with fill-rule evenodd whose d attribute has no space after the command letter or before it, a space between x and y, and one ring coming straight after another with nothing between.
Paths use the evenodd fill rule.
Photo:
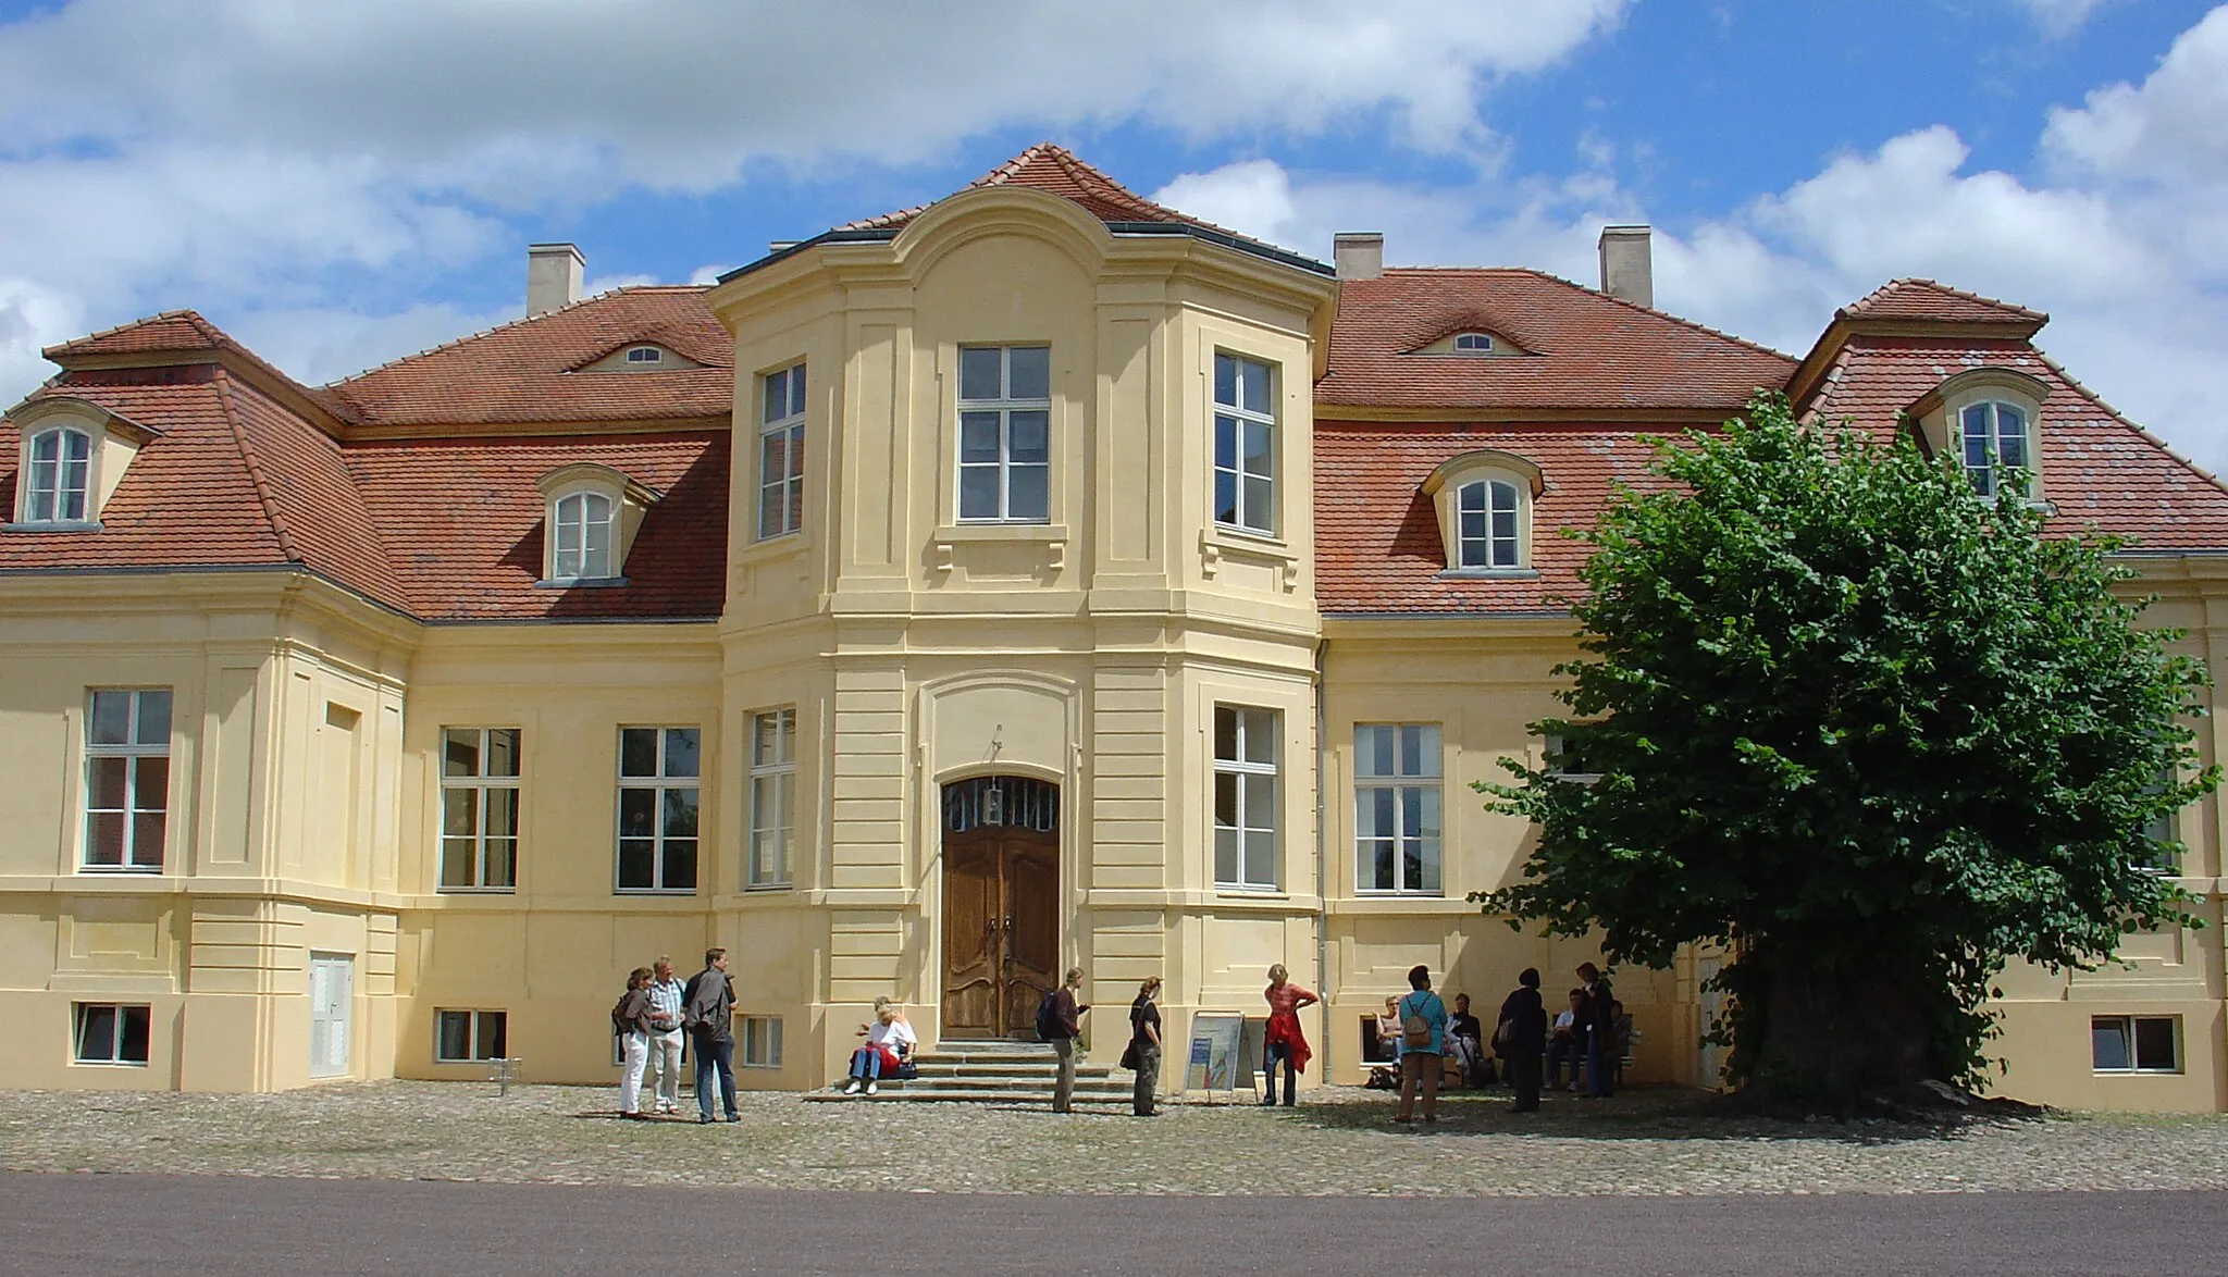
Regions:
<instances>
[{"instance_id":1,"label":"upper red tile roof slope with eyebrow dormer, left of central tower","mask_svg":"<svg viewBox=\"0 0 2228 1277\"><path fill-rule=\"evenodd\" d=\"M704 305L704 292L622 287L383 363L334 381L325 394L363 426L726 417L735 345ZM573 372L633 341L653 341L704 368Z\"/></svg>"}]
</instances>

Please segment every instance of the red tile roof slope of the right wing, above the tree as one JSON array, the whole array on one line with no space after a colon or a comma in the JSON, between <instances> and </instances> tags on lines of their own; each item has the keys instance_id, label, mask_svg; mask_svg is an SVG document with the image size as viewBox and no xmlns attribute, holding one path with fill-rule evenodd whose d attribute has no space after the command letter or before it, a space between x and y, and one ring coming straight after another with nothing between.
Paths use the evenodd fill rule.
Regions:
<instances>
[{"instance_id":1,"label":"red tile roof slope of the right wing, above the tree","mask_svg":"<svg viewBox=\"0 0 2228 1277\"><path fill-rule=\"evenodd\" d=\"M1847 417L1889 437L1898 412L1970 368L2016 368L2050 386L2036 419L2036 472L2054 533L2097 528L2150 550L2228 548L2228 490L2097 399L2025 341L1854 334L1807 417Z\"/></svg>"}]
</instances>

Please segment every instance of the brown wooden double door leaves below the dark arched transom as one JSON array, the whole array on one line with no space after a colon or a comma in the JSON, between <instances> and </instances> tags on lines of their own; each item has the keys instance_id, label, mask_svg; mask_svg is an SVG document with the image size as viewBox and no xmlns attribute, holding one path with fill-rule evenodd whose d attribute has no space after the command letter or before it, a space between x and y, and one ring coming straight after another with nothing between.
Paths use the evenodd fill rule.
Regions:
<instances>
[{"instance_id":1,"label":"brown wooden double door leaves below the dark arched transom","mask_svg":"<svg viewBox=\"0 0 2228 1277\"><path fill-rule=\"evenodd\" d=\"M1058 909L1058 834L945 831L945 1036L1036 1036L1036 1003L1061 983Z\"/></svg>"}]
</instances>

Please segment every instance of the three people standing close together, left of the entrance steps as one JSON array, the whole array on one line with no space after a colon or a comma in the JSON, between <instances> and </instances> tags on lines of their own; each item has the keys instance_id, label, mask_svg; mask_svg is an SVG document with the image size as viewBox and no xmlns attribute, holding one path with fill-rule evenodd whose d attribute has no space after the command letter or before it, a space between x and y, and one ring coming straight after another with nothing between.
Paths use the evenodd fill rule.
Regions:
<instances>
[{"instance_id":1,"label":"three people standing close together, left of the entrance steps","mask_svg":"<svg viewBox=\"0 0 2228 1277\"><path fill-rule=\"evenodd\" d=\"M680 1114L686 1034L695 1047L697 1121L713 1121L713 1094L726 1108L726 1121L742 1121L735 1108L735 981L726 974L726 949L704 949L704 969L686 983L673 978L666 954L635 967L626 976L626 994L610 1007L610 1027L619 1034L626 1070L619 1076L619 1117ZM644 1112L644 1081L653 1112Z\"/></svg>"}]
</instances>

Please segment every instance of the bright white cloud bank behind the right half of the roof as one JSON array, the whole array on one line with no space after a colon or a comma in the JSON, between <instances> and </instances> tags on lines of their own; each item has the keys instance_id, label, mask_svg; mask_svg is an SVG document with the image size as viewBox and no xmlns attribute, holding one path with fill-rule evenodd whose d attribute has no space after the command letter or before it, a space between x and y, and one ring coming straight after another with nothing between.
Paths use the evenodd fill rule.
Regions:
<instances>
[{"instance_id":1,"label":"bright white cloud bank behind the right half of the roof","mask_svg":"<svg viewBox=\"0 0 2228 1277\"><path fill-rule=\"evenodd\" d=\"M2228 7L2186 31L2143 85L2110 85L2041 131L2045 176L1972 172L1950 127L1923 127L1684 227L1655 232L1655 303L1805 352L1836 305L1932 276L2052 312L2041 343L2201 464L2228 472ZM1589 143L1591 145L1591 143ZM1395 187L1248 160L1185 174L1159 198L1328 254L1335 230L1384 230L1404 265L1533 265L1593 283L1593 238L1646 209L1600 174Z\"/></svg>"}]
</instances>

